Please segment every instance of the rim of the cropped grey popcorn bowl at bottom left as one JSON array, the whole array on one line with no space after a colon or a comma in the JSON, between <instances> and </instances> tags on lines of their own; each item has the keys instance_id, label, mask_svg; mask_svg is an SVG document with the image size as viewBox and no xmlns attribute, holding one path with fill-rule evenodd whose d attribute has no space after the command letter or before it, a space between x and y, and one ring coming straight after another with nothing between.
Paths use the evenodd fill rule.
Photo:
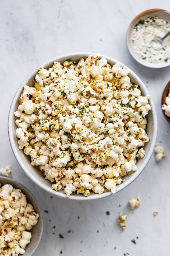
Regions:
<instances>
[{"instance_id":1,"label":"rim of the cropped grey popcorn bowl at bottom left","mask_svg":"<svg viewBox=\"0 0 170 256\"><path fill-rule=\"evenodd\" d=\"M40 209L40 207L39 207L39 205L37 203L37 200L34 197L34 195L23 184L19 183L16 180L13 180L13 179L10 179L10 178L4 177L4 176L0 176L0 183L1 183L1 181L5 182L5 184L11 184L13 186L13 188L21 189L21 191L25 194L26 198L28 196L31 197L31 201L29 201L29 200L28 201L29 201L29 203L31 203L33 205L33 208L34 208L34 205L36 205L36 207L38 209L39 218L38 218L38 223L36 225L39 225L39 229L40 229L40 233L41 234L40 234L39 238L37 238L36 246L34 246L33 250L27 252L27 246L26 246L25 253L24 253L24 255L30 255L31 256L36 251L36 249L37 249L37 247L38 247L38 245L39 245L39 243L41 241L42 234L43 234L43 217L42 217L41 209ZM36 225L35 225L35 227L36 227ZM30 232L31 232L31 230L30 230ZM30 243L31 243L31 241L30 241ZM28 248L28 250L30 250L30 249Z\"/></svg>"}]
</instances>

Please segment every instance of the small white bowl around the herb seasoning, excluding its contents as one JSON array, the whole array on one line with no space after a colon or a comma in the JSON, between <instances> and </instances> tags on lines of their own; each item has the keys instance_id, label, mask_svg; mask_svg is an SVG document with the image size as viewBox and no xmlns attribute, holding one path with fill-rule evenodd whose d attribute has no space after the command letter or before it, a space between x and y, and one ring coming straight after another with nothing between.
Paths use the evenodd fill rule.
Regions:
<instances>
[{"instance_id":1,"label":"small white bowl around the herb seasoning, excluding its contents","mask_svg":"<svg viewBox=\"0 0 170 256\"><path fill-rule=\"evenodd\" d=\"M157 16L158 18L164 19L165 21L170 22L170 13L166 10L163 9L149 9L146 10L140 14L138 14L131 24L128 27L127 34L126 34L126 44L127 48L129 50L129 53L132 55L132 57L142 64L145 67L149 68L164 68L170 65L170 59L167 60L167 62L162 62L162 63L150 63L147 60L142 59L134 50L133 43L132 43L132 31L134 26L141 20L141 19L147 19L149 17L154 17Z\"/></svg>"}]
</instances>

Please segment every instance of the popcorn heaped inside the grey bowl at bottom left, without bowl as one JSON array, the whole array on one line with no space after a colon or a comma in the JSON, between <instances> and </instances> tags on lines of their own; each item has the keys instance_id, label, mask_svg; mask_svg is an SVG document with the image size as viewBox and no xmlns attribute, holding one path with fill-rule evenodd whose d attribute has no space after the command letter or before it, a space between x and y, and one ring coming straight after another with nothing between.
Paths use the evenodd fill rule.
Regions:
<instances>
[{"instance_id":1,"label":"popcorn heaped inside the grey bowl at bottom left, without bowl","mask_svg":"<svg viewBox=\"0 0 170 256\"><path fill-rule=\"evenodd\" d=\"M24 254L31 240L27 230L37 224L39 215L22 191L10 184L0 187L0 209L0 255Z\"/></svg>"}]
</instances>

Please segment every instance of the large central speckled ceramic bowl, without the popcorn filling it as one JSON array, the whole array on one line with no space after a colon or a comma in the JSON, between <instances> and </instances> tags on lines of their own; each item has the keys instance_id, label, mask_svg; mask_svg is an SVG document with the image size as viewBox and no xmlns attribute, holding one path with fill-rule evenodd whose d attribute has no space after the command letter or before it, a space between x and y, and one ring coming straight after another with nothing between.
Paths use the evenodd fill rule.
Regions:
<instances>
[{"instance_id":1,"label":"large central speckled ceramic bowl, without the popcorn filling it","mask_svg":"<svg viewBox=\"0 0 170 256\"><path fill-rule=\"evenodd\" d=\"M53 62L59 61L60 63L63 63L64 60L66 60L66 59L72 59L72 60L78 61L80 58L87 58L90 54L95 54L95 53L66 54L66 55L56 57L52 60L49 60L48 62L42 64L41 66L44 68L49 68L52 66ZM101 57L106 58L108 60L108 63L111 66L113 66L115 63L119 63L123 68L127 68L124 64L122 64L118 60L112 59L112 58L104 56L104 55L101 55ZM34 181L39 187L48 191L49 193L54 194L56 196L66 198L66 194L64 193L64 191L62 189L57 192L55 190L51 189L52 183L44 178L42 172L39 171L38 167L33 167L30 164L29 157L24 154L23 150L19 150L19 148L18 148L18 138L16 137L16 133L15 133L17 126L15 124L14 112L18 108L19 97L23 91L24 85L33 86L33 79L37 72L38 72L38 68L35 69L32 73L30 73L30 75L28 75L27 78L25 78L25 80L22 82L22 84L19 86L18 90L15 93L15 96L11 103L11 107L10 107L10 111L9 111L9 118L8 118L9 140L10 140L10 144L11 144L13 153L16 157L16 160L18 161L18 163L20 164L22 169L25 171L25 173L29 176L29 178L32 181ZM145 85L133 71L131 71L131 73L129 74L129 77L131 78L132 82L140 85L142 95L148 94L148 91L147 91ZM145 157L138 160L138 162L137 162L138 168L137 168L136 172L132 172L128 176L125 176L123 178L124 182L122 184L118 185L117 192L121 191L123 188L126 188L129 184L132 183L132 181L134 181L140 175L140 173L143 171L143 169L147 165L147 163L151 157L151 154L154 150L156 134L157 134L157 117L156 117L154 103L152 102L152 100L150 100L150 104L151 104L152 110L149 111L149 114L147 116L147 118L148 118L147 133L150 138L150 142L146 143L146 145L145 145L145 152L146 152ZM105 190L103 194L95 194L95 193L91 192L88 197L84 197L84 196L82 196L82 194L77 195L77 194L73 193L70 196L70 199L91 200L91 199L107 197L107 196L110 196L110 194L111 193L108 190Z\"/></svg>"}]
</instances>

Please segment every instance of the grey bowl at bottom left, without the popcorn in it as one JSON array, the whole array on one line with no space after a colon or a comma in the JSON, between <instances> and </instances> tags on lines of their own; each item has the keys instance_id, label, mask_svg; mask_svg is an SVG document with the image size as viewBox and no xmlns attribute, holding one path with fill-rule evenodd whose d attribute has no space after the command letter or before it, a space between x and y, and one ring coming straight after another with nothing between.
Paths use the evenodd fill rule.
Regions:
<instances>
[{"instance_id":1,"label":"grey bowl at bottom left, without the popcorn in it","mask_svg":"<svg viewBox=\"0 0 170 256\"><path fill-rule=\"evenodd\" d=\"M43 233L43 218L42 218L41 210L33 194L27 188L25 188L22 184L20 184L18 181L0 176L0 183L2 186L5 184L10 184L14 188L21 189L23 194L25 194L25 196L27 197L27 202L31 203L34 208L34 211L39 214L38 223L35 226L33 226L33 228L30 230L32 238L30 243L26 246L25 253L24 253L24 256L31 256L33 255L34 251L37 249Z\"/></svg>"}]
</instances>

